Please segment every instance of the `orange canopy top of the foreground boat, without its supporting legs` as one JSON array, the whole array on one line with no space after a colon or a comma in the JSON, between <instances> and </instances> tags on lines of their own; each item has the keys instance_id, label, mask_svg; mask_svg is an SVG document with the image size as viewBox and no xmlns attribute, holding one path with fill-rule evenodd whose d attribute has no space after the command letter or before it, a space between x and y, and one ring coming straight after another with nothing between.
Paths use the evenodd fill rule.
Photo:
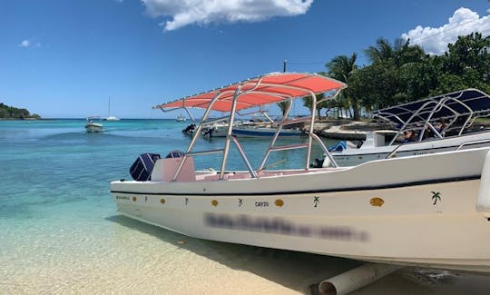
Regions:
<instances>
[{"instance_id":1,"label":"orange canopy top of the foreground boat, without its supporting legs","mask_svg":"<svg viewBox=\"0 0 490 295\"><path fill-rule=\"evenodd\" d=\"M240 111L254 106L279 103L288 99L310 96L311 93L328 93L340 91L347 87L337 80L319 74L273 73L230 84L205 93L163 103L155 106L159 109L170 108L208 108L220 112L230 112L233 97L237 90L239 96L236 110Z\"/></svg>"}]
</instances>

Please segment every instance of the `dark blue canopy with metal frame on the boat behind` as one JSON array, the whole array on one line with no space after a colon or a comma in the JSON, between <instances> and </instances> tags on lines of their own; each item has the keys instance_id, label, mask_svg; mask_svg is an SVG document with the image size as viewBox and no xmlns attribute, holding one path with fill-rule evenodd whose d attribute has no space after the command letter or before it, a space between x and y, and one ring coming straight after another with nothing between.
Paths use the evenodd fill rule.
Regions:
<instances>
[{"instance_id":1,"label":"dark blue canopy with metal frame on the boat behind","mask_svg":"<svg viewBox=\"0 0 490 295\"><path fill-rule=\"evenodd\" d=\"M459 136L476 118L490 115L490 96L478 89L468 88L388 107L371 114L374 118L397 125L398 132L389 145L394 144L397 137L407 130L420 131L417 141L424 139L426 130L432 131L436 138L443 138L449 130L456 130ZM442 130L438 130L435 123L441 120L444 120L446 125Z\"/></svg>"}]
</instances>

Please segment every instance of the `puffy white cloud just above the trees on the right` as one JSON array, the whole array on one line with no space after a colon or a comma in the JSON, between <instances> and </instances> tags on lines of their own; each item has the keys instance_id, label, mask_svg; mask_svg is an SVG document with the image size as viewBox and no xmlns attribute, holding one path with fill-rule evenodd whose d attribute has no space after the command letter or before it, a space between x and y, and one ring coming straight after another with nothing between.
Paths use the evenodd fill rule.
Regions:
<instances>
[{"instance_id":1,"label":"puffy white cloud just above the trees on the right","mask_svg":"<svg viewBox=\"0 0 490 295\"><path fill-rule=\"evenodd\" d=\"M478 32L487 36L490 34L490 15L480 17L468 8L461 7L455 14L449 17L446 25L439 27L422 27L417 25L415 29L404 33L401 37L410 39L410 44L417 44L424 48L427 54L444 54L447 44L454 44L460 35Z\"/></svg>"}]
</instances>

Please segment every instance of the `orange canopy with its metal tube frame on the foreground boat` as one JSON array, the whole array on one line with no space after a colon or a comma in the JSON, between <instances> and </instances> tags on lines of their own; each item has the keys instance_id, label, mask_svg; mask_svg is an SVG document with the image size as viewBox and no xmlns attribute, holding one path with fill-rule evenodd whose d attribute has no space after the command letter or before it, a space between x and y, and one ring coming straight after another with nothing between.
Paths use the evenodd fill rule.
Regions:
<instances>
[{"instance_id":1,"label":"orange canopy with its metal tube frame on the foreground boat","mask_svg":"<svg viewBox=\"0 0 490 295\"><path fill-rule=\"evenodd\" d=\"M313 133L313 128L316 118L317 104L324 102L327 99L336 98L338 93L345 88L347 88L347 84L319 74L272 73L250 78L239 83L230 84L209 92L187 96L170 103L163 103L154 106L153 108L161 109L164 112L181 108L187 109L189 107L205 109L204 114L202 115L201 124L198 125L197 131L194 133L186 152L184 152L182 161L179 163L173 177L171 178L171 181L175 182L177 180L182 167L189 157L211 153L222 153L219 178L220 180L224 179L227 162L229 159L230 143L234 143L236 146L238 152L240 153L240 157L250 173L251 178L260 177L260 172L266 169L265 164L269 159L271 152L292 149L306 149L307 152L305 156L304 170L309 171L311 169L309 168L309 162L311 159L311 147L313 142L319 143L320 148L330 159L332 166L337 167L338 165L333 159L332 155L328 152L328 148L319 139L319 136ZM327 97L317 101L317 94L319 93L329 93L330 95L326 95ZM312 99L310 107L311 116L302 117L299 119L289 119L289 112L293 105L293 100L305 96L310 96ZM276 133L272 136L269 147L265 152L259 167L254 170L247 158L247 155L243 151L238 138L232 134L235 114L239 113L240 110L245 110L252 107L261 107L262 105L284 101L289 101L289 106L277 125ZM194 151L195 143L201 134L202 123L205 123L208 120L211 111L228 113L229 125L223 148ZM282 128L285 125L300 122L309 122L309 132L306 143L276 146L277 139Z\"/></svg>"}]
</instances>

